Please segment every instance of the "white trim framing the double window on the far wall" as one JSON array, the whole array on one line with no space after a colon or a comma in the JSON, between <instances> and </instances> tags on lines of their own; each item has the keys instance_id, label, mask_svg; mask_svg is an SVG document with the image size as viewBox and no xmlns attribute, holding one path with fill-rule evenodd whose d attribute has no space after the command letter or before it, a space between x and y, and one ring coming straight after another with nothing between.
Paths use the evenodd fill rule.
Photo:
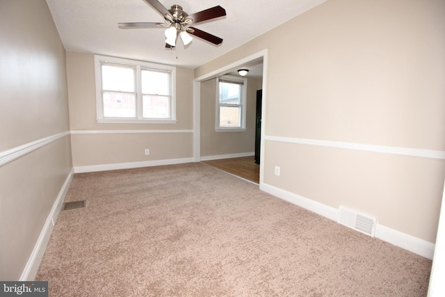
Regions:
<instances>
[{"instance_id":1,"label":"white trim framing the double window on the far wall","mask_svg":"<svg viewBox=\"0 0 445 297\"><path fill-rule=\"evenodd\" d=\"M120 63L136 66L136 113L138 118L104 118L104 106L102 102L102 75L101 61ZM141 68L168 71L171 73L171 97L170 97L170 119L147 119L142 118L142 86L140 79ZM127 123L127 124L175 124L176 120L176 67L161 65L143 61L129 60L126 58L114 58L109 56L95 55L95 83L96 83L96 116L99 123Z\"/></svg>"}]
</instances>

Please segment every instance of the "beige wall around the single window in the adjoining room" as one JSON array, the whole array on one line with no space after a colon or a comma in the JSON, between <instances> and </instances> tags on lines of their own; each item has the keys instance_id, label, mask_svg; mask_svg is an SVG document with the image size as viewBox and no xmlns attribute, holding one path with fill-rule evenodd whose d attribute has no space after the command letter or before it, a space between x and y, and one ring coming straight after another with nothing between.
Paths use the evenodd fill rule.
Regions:
<instances>
[{"instance_id":1,"label":"beige wall around the single window in the adjoining room","mask_svg":"<svg viewBox=\"0 0 445 297\"><path fill-rule=\"evenodd\" d=\"M240 154L255 150L255 111L261 79L248 79L245 131L216 132L216 79L201 83L201 156Z\"/></svg>"}]
</instances>

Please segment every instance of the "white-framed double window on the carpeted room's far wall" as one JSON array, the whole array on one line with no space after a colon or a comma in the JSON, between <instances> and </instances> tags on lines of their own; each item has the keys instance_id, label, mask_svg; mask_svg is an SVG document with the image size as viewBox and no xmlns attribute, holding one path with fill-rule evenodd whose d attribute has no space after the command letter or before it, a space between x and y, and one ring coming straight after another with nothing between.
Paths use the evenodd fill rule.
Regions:
<instances>
[{"instance_id":1,"label":"white-framed double window on the carpeted room's far wall","mask_svg":"<svg viewBox=\"0 0 445 297\"><path fill-rule=\"evenodd\" d=\"M95 56L98 122L176 122L176 68Z\"/></svg>"}]
</instances>

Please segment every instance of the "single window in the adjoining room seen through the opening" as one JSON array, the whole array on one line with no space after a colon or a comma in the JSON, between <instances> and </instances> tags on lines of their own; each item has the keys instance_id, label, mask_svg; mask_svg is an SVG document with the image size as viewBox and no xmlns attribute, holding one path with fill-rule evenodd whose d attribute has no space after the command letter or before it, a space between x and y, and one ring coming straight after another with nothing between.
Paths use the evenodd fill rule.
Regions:
<instances>
[{"instance_id":1,"label":"single window in the adjoining room seen through the opening","mask_svg":"<svg viewBox=\"0 0 445 297\"><path fill-rule=\"evenodd\" d=\"M216 95L216 131L245 131L247 79L219 77Z\"/></svg>"}]
</instances>

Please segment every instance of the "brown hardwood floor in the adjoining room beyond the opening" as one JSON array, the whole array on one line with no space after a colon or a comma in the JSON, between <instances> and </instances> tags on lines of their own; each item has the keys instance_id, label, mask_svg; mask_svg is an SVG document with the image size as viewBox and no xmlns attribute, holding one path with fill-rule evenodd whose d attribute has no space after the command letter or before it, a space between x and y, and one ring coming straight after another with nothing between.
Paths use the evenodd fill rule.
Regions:
<instances>
[{"instance_id":1,"label":"brown hardwood floor in the adjoining room beyond the opening","mask_svg":"<svg viewBox=\"0 0 445 297\"><path fill-rule=\"evenodd\" d=\"M254 156L202 161L202 163L259 184L259 165L255 163Z\"/></svg>"}]
</instances>

